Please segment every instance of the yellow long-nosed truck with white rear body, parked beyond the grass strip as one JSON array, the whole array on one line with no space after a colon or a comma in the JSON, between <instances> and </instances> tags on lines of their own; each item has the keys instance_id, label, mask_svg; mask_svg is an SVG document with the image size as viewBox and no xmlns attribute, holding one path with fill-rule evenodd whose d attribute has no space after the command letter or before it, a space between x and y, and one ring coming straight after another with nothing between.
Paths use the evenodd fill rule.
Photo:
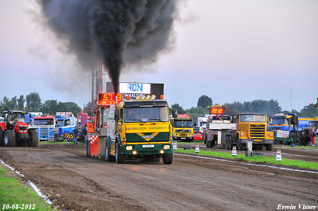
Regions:
<instances>
[{"instance_id":1,"label":"yellow long-nosed truck with white rear body, parked beyond the grass strip","mask_svg":"<svg viewBox=\"0 0 318 211\"><path fill-rule=\"evenodd\" d=\"M219 112L221 118L215 122L210 120L207 130L203 132L207 147L225 146L232 149L236 145L238 150L243 150L246 141L251 141L253 149L261 150L265 146L267 151L272 150L274 134L267 130L266 114L239 113L236 118L231 119L225 118L226 115L223 116L222 112Z\"/></svg>"}]
</instances>

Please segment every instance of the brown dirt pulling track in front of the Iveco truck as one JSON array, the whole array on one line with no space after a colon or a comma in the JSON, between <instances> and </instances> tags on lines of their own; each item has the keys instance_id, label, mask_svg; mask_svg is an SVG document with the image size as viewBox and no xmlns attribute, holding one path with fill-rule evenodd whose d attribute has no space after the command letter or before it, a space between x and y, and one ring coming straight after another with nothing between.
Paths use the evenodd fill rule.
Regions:
<instances>
[{"instance_id":1,"label":"brown dirt pulling track in front of the Iveco truck","mask_svg":"<svg viewBox=\"0 0 318 211\"><path fill-rule=\"evenodd\" d=\"M85 147L73 143L0 147L0 159L66 211L272 211L279 204L295 205L296 210L298 204L318 206L318 171L299 172L182 153L174 154L171 165L161 159L115 164L86 157ZM283 157L318 162L317 149L281 150ZM276 154L276 148L271 153Z\"/></svg>"}]
</instances>

